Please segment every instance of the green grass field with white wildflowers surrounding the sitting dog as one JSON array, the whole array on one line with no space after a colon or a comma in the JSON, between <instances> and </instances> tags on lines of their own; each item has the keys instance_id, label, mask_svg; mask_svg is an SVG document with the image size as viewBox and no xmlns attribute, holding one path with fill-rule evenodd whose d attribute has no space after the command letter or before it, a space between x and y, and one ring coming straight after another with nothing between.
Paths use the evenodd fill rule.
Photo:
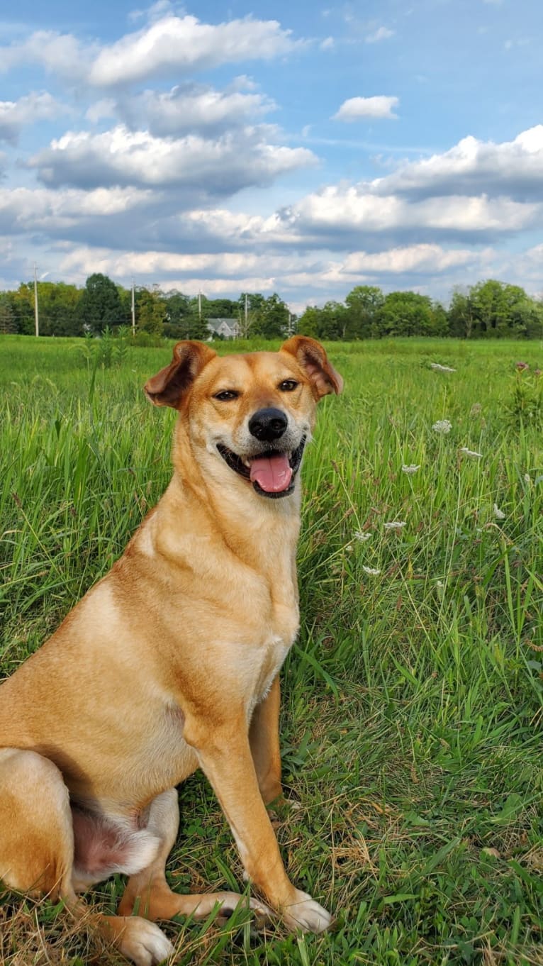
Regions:
<instances>
[{"instance_id":1,"label":"green grass field with white wildflowers surrounding the sitting dog","mask_svg":"<svg viewBox=\"0 0 543 966\"><path fill-rule=\"evenodd\" d=\"M320 937L256 934L243 915L172 923L175 961L542 964L543 344L328 348L346 390L321 405L302 473L281 732L297 808L277 835L293 881L337 923ZM81 341L0 339L3 673L162 493L174 413L141 385L169 357L129 349L93 369ZM173 888L243 889L205 779L180 798ZM122 888L93 901L113 911ZM121 962L46 903L0 895L0 926L6 966Z\"/></svg>"}]
</instances>

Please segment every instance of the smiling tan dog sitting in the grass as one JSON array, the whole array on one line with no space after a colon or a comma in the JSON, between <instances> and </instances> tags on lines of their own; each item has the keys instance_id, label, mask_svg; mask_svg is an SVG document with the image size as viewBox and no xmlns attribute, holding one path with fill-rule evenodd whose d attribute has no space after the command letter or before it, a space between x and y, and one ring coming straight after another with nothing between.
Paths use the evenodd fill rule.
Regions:
<instances>
[{"instance_id":1,"label":"smiling tan dog sitting in the grass","mask_svg":"<svg viewBox=\"0 0 543 966\"><path fill-rule=\"evenodd\" d=\"M168 489L0 688L0 878L80 912L76 893L126 872L119 915L97 924L138 966L173 949L148 920L240 901L166 884L174 786L198 767L272 908L294 929L329 925L289 881L266 804L281 793L278 671L299 626L298 470L317 400L341 387L302 336L223 358L180 342L145 386L179 411Z\"/></svg>"}]
</instances>

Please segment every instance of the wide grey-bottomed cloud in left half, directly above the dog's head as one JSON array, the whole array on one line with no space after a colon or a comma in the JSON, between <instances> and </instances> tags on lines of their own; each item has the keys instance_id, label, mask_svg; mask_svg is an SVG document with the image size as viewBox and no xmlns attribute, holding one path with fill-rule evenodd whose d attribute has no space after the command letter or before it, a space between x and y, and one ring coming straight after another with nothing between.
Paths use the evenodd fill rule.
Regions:
<instances>
[{"instance_id":1,"label":"wide grey-bottomed cloud in left half, directly above the dog's head","mask_svg":"<svg viewBox=\"0 0 543 966\"><path fill-rule=\"evenodd\" d=\"M154 137L124 125L92 134L68 131L29 161L46 185L177 186L202 197L270 185L286 172L316 162L306 148L271 143L268 126L227 131L211 140L195 134Z\"/></svg>"}]
</instances>

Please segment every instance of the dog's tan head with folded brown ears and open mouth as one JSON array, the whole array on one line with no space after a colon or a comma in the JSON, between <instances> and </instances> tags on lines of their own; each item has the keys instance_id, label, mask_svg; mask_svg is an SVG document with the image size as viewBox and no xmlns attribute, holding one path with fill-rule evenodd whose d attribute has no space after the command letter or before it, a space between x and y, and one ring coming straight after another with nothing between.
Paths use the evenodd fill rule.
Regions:
<instances>
[{"instance_id":1,"label":"dog's tan head with folded brown ears and open mouth","mask_svg":"<svg viewBox=\"0 0 543 966\"><path fill-rule=\"evenodd\" d=\"M236 474L260 496L277 498L295 489L316 403L342 387L323 346L295 335L277 353L246 355L178 342L145 392L156 406L180 412L195 448L216 459L205 462L217 482Z\"/></svg>"}]
</instances>

